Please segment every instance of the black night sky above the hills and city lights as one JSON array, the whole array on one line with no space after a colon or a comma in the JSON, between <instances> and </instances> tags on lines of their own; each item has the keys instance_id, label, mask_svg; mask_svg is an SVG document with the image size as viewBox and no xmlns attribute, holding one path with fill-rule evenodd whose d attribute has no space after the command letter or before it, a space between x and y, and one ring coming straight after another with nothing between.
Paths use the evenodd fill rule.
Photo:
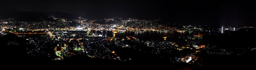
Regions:
<instances>
[{"instance_id":1,"label":"black night sky above the hills and city lights","mask_svg":"<svg viewBox=\"0 0 256 70\"><path fill-rule=\"evenodd\" d=\"M0 3L3 11L65 12L87 18L160 18L177 24L256 26L256 5L246 1L1 0Z\"/></svg>"}]
</instances>

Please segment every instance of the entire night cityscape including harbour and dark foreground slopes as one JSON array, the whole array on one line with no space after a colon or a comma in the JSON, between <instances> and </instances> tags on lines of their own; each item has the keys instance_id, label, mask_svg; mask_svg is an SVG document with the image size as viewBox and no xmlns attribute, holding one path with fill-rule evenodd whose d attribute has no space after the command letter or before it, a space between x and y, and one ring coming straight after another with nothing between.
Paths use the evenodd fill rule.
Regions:
<instances>
[{"instance_id":1,"label":"entire night cityscape including harbour and dark foreground slopes","mask_svg":"<svg viewBox=\"0 0 256 70\"><path fill-rule=\"evenodd\" d=\"M38 16L42 12L14 12L19 14L15 15L18 18L5 15L6 12L0 15L1 62L170 65L173 66L170 69L177 70L255 62L256 27L253 25L213 26L179 24L161 18L93 19L84 15L66 18ZM21 16L24 13L37 17Z\"/></svg>"}]
</instances>

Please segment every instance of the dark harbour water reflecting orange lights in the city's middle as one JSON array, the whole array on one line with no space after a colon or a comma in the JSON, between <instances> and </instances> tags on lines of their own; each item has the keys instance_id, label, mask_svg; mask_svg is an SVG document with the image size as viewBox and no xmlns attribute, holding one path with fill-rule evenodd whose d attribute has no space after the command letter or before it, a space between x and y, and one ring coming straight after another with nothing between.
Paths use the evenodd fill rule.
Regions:
<instances>
[{"instance_id":1,"label":"dark harbour water reflecting orange lights in the city's middle","mask_svg":"<svg viewBox=\"0 0 256 70\"><path fill-rule=\"evenodd\" d=\"M94 31L93 31L94 32ZM139 40L155 40L155 41L163 41L164 38L167 37L167 41L176 41L179 39L182 39L187 36L193 36L198 35L199 32L156 32L156 31L148 31L148 32L131 32L131 31L125 31L125 33L116 33L113 34L111 31L97 31L97 33L102 34L107 37L116 37L116 38L125 38L126 36L133 36L135 38L138 38Z\"/></svg>"}]
</instances>

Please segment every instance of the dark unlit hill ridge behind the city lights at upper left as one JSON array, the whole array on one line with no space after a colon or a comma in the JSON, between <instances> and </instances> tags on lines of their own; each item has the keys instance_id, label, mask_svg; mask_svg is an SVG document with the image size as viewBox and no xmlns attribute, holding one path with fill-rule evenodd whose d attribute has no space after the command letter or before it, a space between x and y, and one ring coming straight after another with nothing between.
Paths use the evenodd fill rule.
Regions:
<instances>
[{"instance_id":1,"label":"dark unlit hill ridge behind the city lights at upper left","mask_svg":"<svg viewBox=\"0 0 256 70\"><path fill-rule=\"evenodd\" d=\"M7 11L0 12L1 19L15 18L17 21L41 21L41 18L55 17L64 19L74 19L78 15L62 13L62 12L23 12L23 11Z\"/></svg>"}]
</instances>

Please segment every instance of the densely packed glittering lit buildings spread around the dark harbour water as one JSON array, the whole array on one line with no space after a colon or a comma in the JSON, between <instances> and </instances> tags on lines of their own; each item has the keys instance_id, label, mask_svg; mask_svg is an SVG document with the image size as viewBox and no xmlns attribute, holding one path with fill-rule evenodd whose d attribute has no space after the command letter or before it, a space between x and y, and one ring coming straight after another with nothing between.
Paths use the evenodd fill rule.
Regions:
<instances>
[{"instance_id":1,"label":"densely packed glittering lit buildings spread around the dark harbour water","mask_svg":"<svg viewBox=\"0 0 256 70\"><path fill-rule=\"evenodd\" d=\"M217 35L217 32L225 30L236 31L254 27L225 27L210 28L204 26L174 26L170 24L161 24L159 20L139 20L110 18L103 20L88 20L82 17L78 19L62 18L41 18L41 22L15 21L14 18L0 20L0 36L8 33L23 37L29 41L33 47L27 48L27 54L31 56L45 56L51 60L64 60L67 57L83 54L91 58L115 59L120 61L129 61L134 58L122 58L119 52L120 48L132 48L144 53L159 56L177 63L191 63L202 65L201 53L209 55L232 55L233 49L218 48L216 45L202 44L203 35ZM99 21L104 21L100 23ZM114 24L109 24L113 22ZM101 31L98 33L97 31ZM103 31L110 31L112 37L103 35ZM156 31L177 32L178 42L166 40L172 36L161 37L163 40L139 40L133 36L124 38L115 37L115 33L126 31L147 32ZM200 34L201 33L201 34ZM15 41L9 41L9 45L19 45ZM240 48L236 50L248 51L251 48ZM236 53L237 54L237 53ZM238 55L242 55L239 53Z\"/></svg>"}]
</instances>

